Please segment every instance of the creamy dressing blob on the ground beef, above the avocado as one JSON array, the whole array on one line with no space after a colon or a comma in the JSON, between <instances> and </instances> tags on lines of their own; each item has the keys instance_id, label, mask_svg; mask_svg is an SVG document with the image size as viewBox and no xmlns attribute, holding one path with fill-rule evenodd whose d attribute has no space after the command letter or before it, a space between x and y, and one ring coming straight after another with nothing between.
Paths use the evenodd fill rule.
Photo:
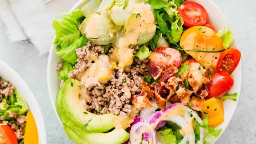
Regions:
<instances>
[{"instance_id":1,"label":"creamy dressing blob on the ground beef, above the avocado","mask_svg":"<svg viewBox=\"0 0 256 144\"><path fill-rule=\"evenodd\" d=\"M107 83L112 75L112 65L109 62L109 57L102 54L99 58L85 70L81 76L81 83L85 88L98 83Z\"/></svg>"}]
</instances>

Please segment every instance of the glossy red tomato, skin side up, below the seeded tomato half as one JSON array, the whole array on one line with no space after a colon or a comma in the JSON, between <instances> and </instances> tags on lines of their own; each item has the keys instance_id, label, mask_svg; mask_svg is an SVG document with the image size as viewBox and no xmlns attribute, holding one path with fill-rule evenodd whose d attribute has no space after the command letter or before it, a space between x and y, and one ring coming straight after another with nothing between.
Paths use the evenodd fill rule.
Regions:
<instances>
[{"instance_id":1,"label":"glossy red tomato, skin side up, below the seeded tomato half","mask_svg":"<svg viewBox=\"0 0 256 144\"><path fill-rule=\"evenodd\" d=\"M210 83L207 99L212 97L219 98L226 94L234 85L234 80L227 72L223 71L212 75Z\"/></svg>"}]
</instances>

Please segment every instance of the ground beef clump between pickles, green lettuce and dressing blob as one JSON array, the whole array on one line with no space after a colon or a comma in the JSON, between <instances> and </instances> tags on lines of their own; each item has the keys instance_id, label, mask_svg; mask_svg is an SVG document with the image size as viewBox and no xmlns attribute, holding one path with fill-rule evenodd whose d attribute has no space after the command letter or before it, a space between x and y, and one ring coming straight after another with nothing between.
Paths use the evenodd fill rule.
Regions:
<instances>
[{"instance_id":1,"label":"ground beef clump between pickles, green lettuce and dressing blob","mask_svg":"<svg viewBox=\"0 0 256 144\"><path fill-rule=\"evenodd\" d=\"M77 63L75 64L75 69L69 73L68 77L75 78L79 73L91 66L93 62L91 57L98 57L98 53L103 52L104 48L102 46L94 46L91 42L88 42L83 48L76 49Z\"/></svg>"}]
</instances>

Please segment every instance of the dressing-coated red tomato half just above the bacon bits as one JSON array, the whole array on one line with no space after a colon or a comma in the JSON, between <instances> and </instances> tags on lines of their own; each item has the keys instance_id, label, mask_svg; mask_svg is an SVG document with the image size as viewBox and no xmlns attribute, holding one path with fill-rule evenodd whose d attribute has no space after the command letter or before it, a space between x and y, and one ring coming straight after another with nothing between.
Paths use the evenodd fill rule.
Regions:
<instances>
[{"instance_id":1,"label":"dressing-coated red tomato half just above the bacon bits","mask_svg":"<svg viewBox=\"0 0 256 144\"><path fill-rule=\"evenodd\" d=\"M148 58L163 67L173 65L178 68L182 61L181 54L174 48L158 48L153 50Z\"/></svg>"}]
</instances>

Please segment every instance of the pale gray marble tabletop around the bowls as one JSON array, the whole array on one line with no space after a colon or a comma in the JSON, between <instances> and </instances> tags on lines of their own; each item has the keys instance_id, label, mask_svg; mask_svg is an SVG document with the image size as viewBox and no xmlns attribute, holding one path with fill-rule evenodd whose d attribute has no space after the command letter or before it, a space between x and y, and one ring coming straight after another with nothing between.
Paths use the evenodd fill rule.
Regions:
<instances>
[{"instance_id":1,"label":"pale gray marble tabletop around the bowls","mask_svg":"<svg viewBox=\"0 0 256 144\"><path fill-rule=\"evenodd\" d=\"M233 26L243 63L242 93L236 112L228 128L216 143L255 144L256 1L213 1ZM46 80L48 54L39 55L35 46L27 41L11 43L5 26L0 23L0 59L16 70L33 91L43 112L48 143L72 143L62 129L50 103Z\"/></svg>"}]
</instances>

